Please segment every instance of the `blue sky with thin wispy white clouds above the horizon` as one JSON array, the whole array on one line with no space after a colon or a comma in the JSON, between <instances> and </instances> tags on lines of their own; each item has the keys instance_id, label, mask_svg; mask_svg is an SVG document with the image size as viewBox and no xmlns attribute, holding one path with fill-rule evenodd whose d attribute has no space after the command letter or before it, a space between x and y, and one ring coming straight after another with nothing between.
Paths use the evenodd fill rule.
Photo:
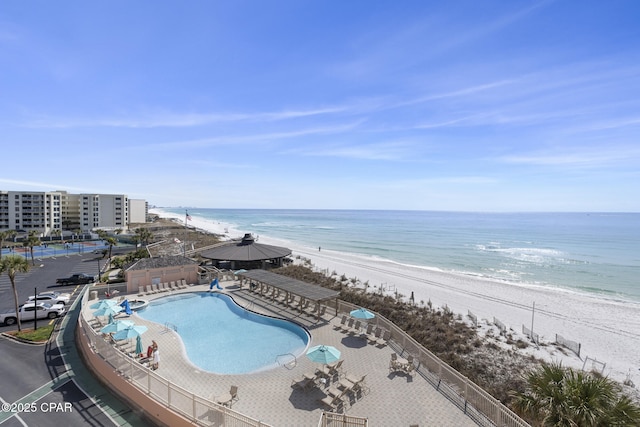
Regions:
<instances>
[{"instance_id":1,"label":"blue sky with thin wispy white clouds above the horizon","mask_svg":"<svg viewBox=\"0 0 640 427\"><path fill-rule=\"evenodd\" d=\"M0 189L640 211L640 3L0 3Z\"/></svg>"}]
</instances>

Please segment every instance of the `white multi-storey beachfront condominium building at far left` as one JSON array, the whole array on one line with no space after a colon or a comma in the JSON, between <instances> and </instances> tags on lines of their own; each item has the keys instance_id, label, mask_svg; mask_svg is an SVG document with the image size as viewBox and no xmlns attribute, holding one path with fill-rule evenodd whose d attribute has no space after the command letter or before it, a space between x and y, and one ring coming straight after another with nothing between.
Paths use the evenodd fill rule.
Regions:
<instances>
[{"instance_id":1,"label":"white multi-storey beachfront condominium building at far left","mask_svg":"<svg viewBox=\"0 0 640 427\"><path fill-rule=\"evenodd\" d=\"M147 203L125 194L70 194L66 191L1 191L0 230L64 231L126 229L145 222Z\"/></svg>"}]
</instances>

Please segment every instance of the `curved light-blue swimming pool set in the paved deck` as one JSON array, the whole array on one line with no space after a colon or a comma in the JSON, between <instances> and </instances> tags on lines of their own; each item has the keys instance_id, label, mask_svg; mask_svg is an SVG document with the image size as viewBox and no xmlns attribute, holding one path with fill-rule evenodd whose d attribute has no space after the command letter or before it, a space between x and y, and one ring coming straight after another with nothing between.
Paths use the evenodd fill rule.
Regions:
<instances>
[{"instance_id":1,"label":"curved light-blue swimming pool set in the paved deck","mask_svg":"<svg viewBox=\"0 0 640 427\"><path fill-rule=\"evenodd\" d=\"M229 296L198 292L151 301L138 315L177 326L187 357L200 369L244 374L278 366L283 355L299 357L310 337L301 326L239 307ZM290 356L289 356L290 359Z\"/></svg>"}]
</instances>

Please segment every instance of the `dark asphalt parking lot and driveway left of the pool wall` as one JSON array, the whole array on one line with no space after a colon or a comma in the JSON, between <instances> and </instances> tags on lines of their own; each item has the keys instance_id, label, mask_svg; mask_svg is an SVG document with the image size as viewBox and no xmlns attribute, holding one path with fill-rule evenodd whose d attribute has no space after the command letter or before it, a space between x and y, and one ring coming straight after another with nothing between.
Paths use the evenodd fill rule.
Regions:
<instances>
[{"instance_id":1,"label":"dark asphalt parking lot and driveway left of the pool wall","mask_svg":"<svg viewBox=\"0 0 640 427\"><path fill-rule=\"evenodd\" d=\"M28 273L16 276L19 303L30 295L56 290L69 292L72 298L67 313L51 322L60 322L60 332L47 344L25 344L0 336L0 425L4 426L113 426L148 425L115 396L106 391L86 370L75 348L74 330L78 310L74 301L82 286L55 286L58 277L74 273L95 275L101 255L73 254L36 259ZM13 308L11 283L0 277L0 311ZM42 326L50 320L38 320ZM33 328L23 322L23 329ZM17 325L0 325L0 333ZM56 328L58 329L58 328Z\"/></svg>"}]
</instances>

